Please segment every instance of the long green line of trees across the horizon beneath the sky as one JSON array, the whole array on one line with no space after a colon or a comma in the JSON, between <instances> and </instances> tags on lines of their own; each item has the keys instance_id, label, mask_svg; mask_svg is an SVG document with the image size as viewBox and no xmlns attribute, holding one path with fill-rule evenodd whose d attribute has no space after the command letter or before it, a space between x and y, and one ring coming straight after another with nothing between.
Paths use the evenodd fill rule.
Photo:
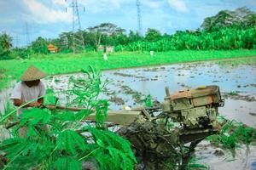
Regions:
<instances>
[{"instance_id":1,"label":"long green line of trees across the horizon beneath the sky","mask_svg":"<svg viewBox=\"0 0 256 170\"><path fill-rule=\"evenodd\" d=\"M115 51L252 49L256 48L256 13L245 7L234 11L222 10L207 17L195 31L176 31L172 35L148 28L145 36L140 36L136 31L126 33L125 29L113 23L90 26L74 34L83 36L85 51L95 51L99 45L113 46ZM38 37L26 48L13 48L12 37L0 33L0 59L48 54L49 43L59 48L60 53L72 53L73 32L61 32L54 39Z\"/></svg>"}]
</instances>

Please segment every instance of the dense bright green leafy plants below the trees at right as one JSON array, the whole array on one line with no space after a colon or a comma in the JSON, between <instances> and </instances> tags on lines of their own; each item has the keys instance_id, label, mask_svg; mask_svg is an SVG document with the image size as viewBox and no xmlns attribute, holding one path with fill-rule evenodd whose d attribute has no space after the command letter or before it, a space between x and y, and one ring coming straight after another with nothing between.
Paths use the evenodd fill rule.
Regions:
<instances>
[{"instance_id":1,"label":"dense bright green leafy plants below the trees at right","mask_svg":"<svg viewBox=\"0 0 256 170\"><path fill-rule=\"evenodd\" d=\"M256 48L256 26L246 30L222 28L219 31L178 31L176 34L163 36L158 41L138 41L122 46L128 51L169 51L169 50L207 50ZM119 45L120 46L120 45ZM120 47L117 48L120 48Z\"/></svg>"}]
</instances>

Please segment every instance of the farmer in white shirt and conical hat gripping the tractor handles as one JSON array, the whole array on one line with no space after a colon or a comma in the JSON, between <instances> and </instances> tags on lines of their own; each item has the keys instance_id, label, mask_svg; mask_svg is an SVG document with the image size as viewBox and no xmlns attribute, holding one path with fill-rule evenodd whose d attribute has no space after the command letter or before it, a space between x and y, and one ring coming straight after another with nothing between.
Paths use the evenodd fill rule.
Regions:
<instances>
[{"instance_id":1,"label":"farmer in white shirt and conical hat gripping the tractor handles","mask_svg":"<svg viewBox=\"0 0 256 170\"><path fill-rule=\"evenodd\" d=\"M46 77L46 74L43 71L39 71L33 65L28 67L28 69L22 74L20 77L21 82L18 82L13 89L11 99L13 99L15 106L24 105L27 102L34 100L17 111L18 115L20 115L21 111L25 108L38 107L43 104L45 86L40 79L44 77Z\"/></svg>"}]
</instances>

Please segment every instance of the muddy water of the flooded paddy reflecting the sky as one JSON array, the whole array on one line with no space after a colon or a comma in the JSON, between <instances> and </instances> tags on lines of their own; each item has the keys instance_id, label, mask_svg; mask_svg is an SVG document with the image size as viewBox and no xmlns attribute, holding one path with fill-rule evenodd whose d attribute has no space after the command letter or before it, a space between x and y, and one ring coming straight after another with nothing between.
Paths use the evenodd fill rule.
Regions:
<instances>
[{"instance_id":1,"label":"muddy water of the flooded paddy reflecting the sky","mask_svg":"<svg viewBox=\"0 0 256 170\"><path fill-rule=\"evenodd\" d=\"M58 92L67 89L70 76L61 75L44 80L50 88L55 89L62 104L66 103L66 98ZM72 76L82 77L81 74ZM220 115L256 127L256 65L250 63L219 65L216 61L210 61L103 71L102 79L106 78L111 83L108 85L108 94L102 94L101 97L110 99L112 110L120 110L124 105L141 105L136 98L143 99L147 94L161 102L166 96L166 86L173 93L183 88L214 84L220 87L225 98L225 105L219 110ZM211 169L256 169L256 147L251 147L250 152L247 152L246 147L241 146L235 158L229 150L224 150L223 156L214 155L215 150L203 141L196 148L195 155Z\"/></svg>"}]
</instances>

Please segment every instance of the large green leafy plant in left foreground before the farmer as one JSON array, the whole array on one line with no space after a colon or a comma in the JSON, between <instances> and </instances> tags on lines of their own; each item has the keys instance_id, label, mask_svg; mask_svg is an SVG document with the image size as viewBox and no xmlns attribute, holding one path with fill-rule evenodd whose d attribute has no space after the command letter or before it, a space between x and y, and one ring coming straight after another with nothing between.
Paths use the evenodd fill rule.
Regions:
<instances>
[{"instance_id":1,"label":"large green leafy plant in left foreground before the farmer","mask_svg":"<svg viewBox=\"0 0 256 170\"><path fill-rule=\"evenodd\" d=\"M137 161L130 143L104 129L108 101L98 99L98 95L107 82L101 82L101 74L91 67L84 76L73 78L68 91L74 95L72 103L83 106L83 110L34 108L20 115L20 123L13 128L14 136L0 144L7 158L3 169L133 169ZM96 127L84 122L93 111ZM23 137L18 133L21 129L25 132Z\"/></svg>"}]
</instances>

